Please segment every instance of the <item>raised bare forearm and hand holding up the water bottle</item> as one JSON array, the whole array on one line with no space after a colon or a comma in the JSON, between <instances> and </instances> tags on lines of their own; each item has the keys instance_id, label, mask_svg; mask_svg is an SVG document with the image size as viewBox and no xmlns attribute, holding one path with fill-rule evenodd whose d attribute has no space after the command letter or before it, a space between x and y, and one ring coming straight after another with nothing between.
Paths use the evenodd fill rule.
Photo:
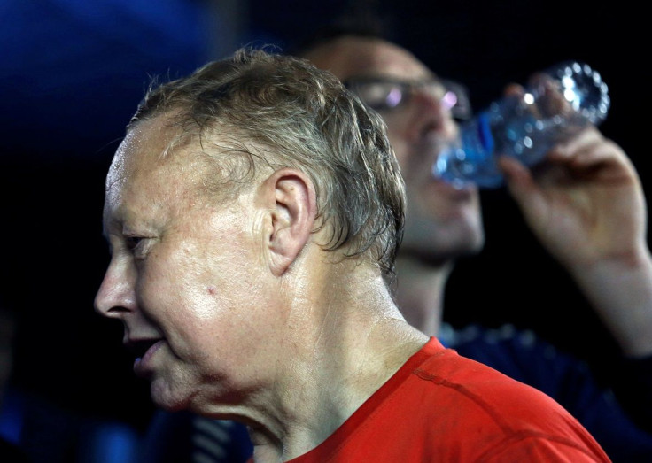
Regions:
<instances>
[{"instance_id":1,"label":"raised bare forearm and hand holding up the water bottle","mask_svg":"<svg viewBox=\"0 0 652 463\"><path fill-rule=\"evenodd\" d=\"M569 272L620 345L624 362L622 371L613 374L614 389L649 428L652 258L647 206L630 159L589 127L556 146L536 174L514 159L500 162L532 232Z\"/></svg>"}]
</instances>

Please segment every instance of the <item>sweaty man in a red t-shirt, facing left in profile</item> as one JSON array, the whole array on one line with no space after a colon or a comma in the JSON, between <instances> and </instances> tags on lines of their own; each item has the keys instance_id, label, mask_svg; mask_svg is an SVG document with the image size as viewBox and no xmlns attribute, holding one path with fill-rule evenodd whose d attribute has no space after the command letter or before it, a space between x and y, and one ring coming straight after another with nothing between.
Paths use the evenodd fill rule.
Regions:
<instances>
[{"instance_id":1,"label":"sweaty man in a red t-shirt, facing left in profile","mask_svg":"<svg viewBox=\"0 0 652 463\"><path fill-rule=\"evenodd\" d=\"M156 405L245 423L257 462L609 461L552 398L407 323L404 208L376 112L306 61L239 50L138 106L96 308Z\"/></svg>"}]
</instances>

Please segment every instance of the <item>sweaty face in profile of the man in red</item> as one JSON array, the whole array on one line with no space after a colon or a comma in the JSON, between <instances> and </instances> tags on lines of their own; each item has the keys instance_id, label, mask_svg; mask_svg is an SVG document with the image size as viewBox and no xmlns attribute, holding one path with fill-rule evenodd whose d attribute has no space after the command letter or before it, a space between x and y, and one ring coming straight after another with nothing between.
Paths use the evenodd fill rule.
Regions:
<instances>
[{"instance_id":1,"label":"sweaty face in profile of the man in red","mask_svg":"<svg viewBox=\"0 0 652 463\"><path fill-rule=\"evenodd\" d=\"M96 308L122 321L154 403L198 409L275 374L266 366L276 352L260 343L283 345L283 317L266 292L255 189L226 202L202 191L200 147L168 150L162 118L128 133L107 175L112 259Z\"/></svg>"}]
</instances>

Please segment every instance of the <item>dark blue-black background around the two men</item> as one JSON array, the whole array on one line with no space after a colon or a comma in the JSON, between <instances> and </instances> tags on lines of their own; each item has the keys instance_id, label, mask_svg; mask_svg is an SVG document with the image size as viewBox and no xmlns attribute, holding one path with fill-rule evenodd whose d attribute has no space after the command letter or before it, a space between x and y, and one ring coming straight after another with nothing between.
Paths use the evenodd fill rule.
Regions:
<instances>
[{"instance_id":1,"label":"dark blue-black background around the two men","mask_svg":"<svg viewBox=\"0 0 652 463\"><path fill-rule=\"evenodd\" d=\"M353 2L396 40L467 84L476 108L509 81L568 58L609 84L602 125L645 185L648 35L633 2ZM4 0L0 4L3 304L19 313L14 382L75 413L141 426L151 404L119 324L93 312L108 262L104 177L150 76L189 73L245 43L291 47L350 8L345 2ZM650 188L648 188L650 189ZM539 249L505 191L483 193L485 251L460 262L446 320L511 322L606 374L617 353L563 271ZM246 359L243 359L246 361Z\"/></svg>"}]
</instances>

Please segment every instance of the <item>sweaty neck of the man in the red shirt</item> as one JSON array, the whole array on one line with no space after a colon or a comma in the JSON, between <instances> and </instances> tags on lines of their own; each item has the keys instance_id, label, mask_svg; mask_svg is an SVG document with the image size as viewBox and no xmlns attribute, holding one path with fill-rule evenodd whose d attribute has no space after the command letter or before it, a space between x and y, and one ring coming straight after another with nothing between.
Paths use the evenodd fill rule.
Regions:
<instances>
[{"instance_id":1,"label":"sweaty neck of the man in the red shirt","mask_svg":"<svg viewBox=\"0 0 652 463\"><path fill-rule=\"evenodd\" d=\"M300 294L282 296L292 308L278 357L290 361L275 364L272 394L248 414L257 461L314 448L428 341L402 320L375 267L346 260L330 267L309 287L288 285Z\"/></svg>"}]
</instances>

